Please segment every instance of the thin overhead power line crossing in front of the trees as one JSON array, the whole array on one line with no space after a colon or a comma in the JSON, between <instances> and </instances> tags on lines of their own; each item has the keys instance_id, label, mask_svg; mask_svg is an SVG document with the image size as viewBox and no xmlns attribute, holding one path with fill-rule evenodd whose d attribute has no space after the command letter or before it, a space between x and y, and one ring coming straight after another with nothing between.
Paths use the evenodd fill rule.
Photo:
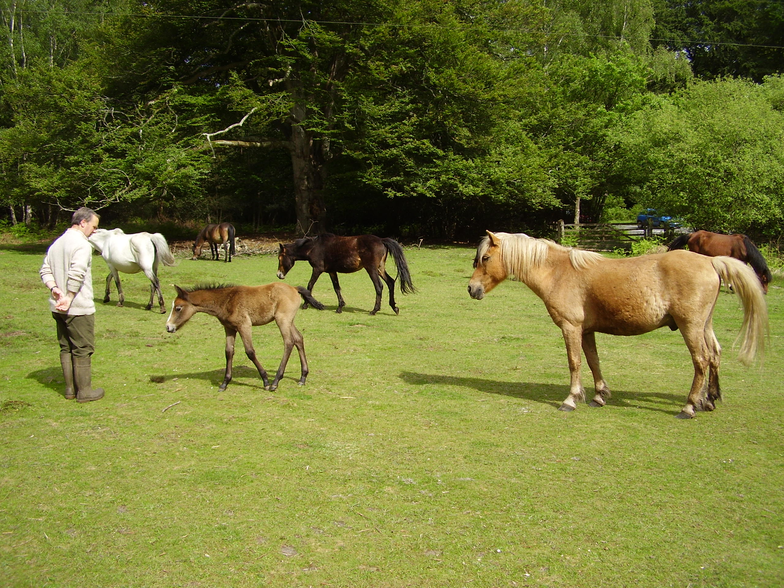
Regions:
<instances>
[{"instance_id":1,"label":"thin overhead power line crossing in front of the trees","mask_svg":"<svg viewBox=\"0 0 784 588\"><path fill-rule=\"evenodd\" d=\"M749 2L768 2L768 0L749 0ZM768 2L770 4L782 4L784 2ZM17 10L16 13L27 14L49 14L48 10ZM416 27L416 28L441 28L441 29L454 29L455 27L446 24L393 24L393 23L364 23L360 21L350 20L313 20L313 19L285 19L285 18L262 18L254 16L198 16L191 14L141 14L141 13L93 13L93 12L78 12L71 11L68 14L80 16L102 16L104 18L110 16L123 17L132 16L136 18L169 18L169 19L190 19L190 20L241 20L245 22L267 22L267 23L314 23L314 24L348 24L359 27ZM518 32L529 34L546 34L550 36L560 37L590 37L590 38L607 38L616 41L622 41L623 38L615 34L589 34L589 33L567 33L567 32L545 32L536 29L504 29L503 32ZM724 41L689 41L685 39L672 39L672 38L649 38L648 41L657 41L663 43L676 43L680 45L722 45L730 47L756 47L758 49L784 49L784 45L760 45L757 43L733 43Z\"/></svg>"}]
</instances>

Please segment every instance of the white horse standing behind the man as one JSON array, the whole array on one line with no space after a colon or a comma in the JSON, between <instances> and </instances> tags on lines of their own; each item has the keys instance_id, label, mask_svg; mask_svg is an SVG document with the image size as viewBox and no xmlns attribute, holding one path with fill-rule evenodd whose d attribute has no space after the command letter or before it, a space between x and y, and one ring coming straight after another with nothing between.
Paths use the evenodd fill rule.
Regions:
<instances>
[{"instance_id":1,"label":"white horse standing behind the man","mask_svg":"<svg viewBox=\"0 0 784 588\"><path fill-rule=\"evenodd\" d=\"M109 275L106 277L106 294L103 296L104 303L109 302L111 278L114 278L120 297L117 306L122 307L122 304L125 303L125 293L122 292L119 272L136 274L143 271L150 280L150 302L147 303L147 310L151 310L153 296L155 292L158 292L161 314L166 312L161 282L158 281L158 261L162 261L165 266L173 266L174 256L172 256L169 244L166 243L162 234L125 234L122 229L96 229L90 235L89 241L93 245L93 249L100 253L109 266Z\"/></svg>"}]
</instances>

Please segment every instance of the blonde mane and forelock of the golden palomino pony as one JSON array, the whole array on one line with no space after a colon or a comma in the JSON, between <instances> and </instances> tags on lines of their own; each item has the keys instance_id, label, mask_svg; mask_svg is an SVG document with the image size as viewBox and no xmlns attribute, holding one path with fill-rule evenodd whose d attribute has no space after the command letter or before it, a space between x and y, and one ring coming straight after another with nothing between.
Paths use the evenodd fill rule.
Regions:
<instances>
[{"instance_id":1,"label":"blonde mane and forelock of the golden palomino pony","mask_svg":"<svg viewBox=\"0 0 784 588\"><path fill-rule=\"evenodd\" d=\"M503 261L506 273L514 278L525 280L528 270L535 269L542 265L550 251L563 251L569 253L569 261L575 270L584 270L586 267L593 266L599 260L603 260L599 253L593 251L583 251L558 245L550 239L535 239L528 237L524 233L494 233L499 238L501 260ZM477 260L481 259L490 249L490 238L485 237L477 249Z\"/></svg>"}]
</instances>

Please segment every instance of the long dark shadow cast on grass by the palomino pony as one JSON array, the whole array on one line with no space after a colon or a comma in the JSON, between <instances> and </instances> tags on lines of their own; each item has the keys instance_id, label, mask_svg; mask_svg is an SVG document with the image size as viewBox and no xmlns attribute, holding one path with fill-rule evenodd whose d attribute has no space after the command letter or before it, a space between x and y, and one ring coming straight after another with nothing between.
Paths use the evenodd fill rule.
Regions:
<instances>
[{"instance_id":1,"label":"long dark shadow cast on grass by the palomino pony","mask_svg":"<svg viewBox=\"0 0 784 588\"><path fill-rule=\"evenodd\" d=\"M511 396L514 398L524 398L544 405L558 408L569 394L569 387L559 384L542 384L532 382L502 382L493 379L467 378L463 376L443 376L438 374L418 374L413 372L401 372L401 379L405 383L423 386L424 384L444 384L447 386L459 386L463 388L473 388L485 394L499 394L501 396ZM592 390L586 390L588 401L593 397ZM619 406L622 408L641 408L653 412L663 412L667 415L675 415L681 412L681 407L686 401L684 394L664 394L659 392L629 392L626 390L614 390L612 398L607 401L608 406ZM654 403L663 405L667 408L644 405L642 403ZM672 408L670 408L672 407Z\"/></svg>"}]
</instances>

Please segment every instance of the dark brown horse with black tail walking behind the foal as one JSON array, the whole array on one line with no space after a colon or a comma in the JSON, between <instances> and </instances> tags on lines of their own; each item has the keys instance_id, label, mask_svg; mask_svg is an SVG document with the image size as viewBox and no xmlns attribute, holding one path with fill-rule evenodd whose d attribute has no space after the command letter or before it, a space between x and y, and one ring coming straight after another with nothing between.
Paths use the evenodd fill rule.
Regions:
<instances>
[{"instance_id":1,"label":"dark brown horse with black tail walking behind the foal","mask_svg":"<svg viewBox=\"0 0 784 588\"><path fill-rule=\"evenodd\" d=\"M387 289L390 292L390 307L394 310L394 314L400 313L400 309L394 302L395 278L387 274L385 269L387 253L392 254L397 266L401 292L403 294L416 292L403 249L394 239L382 239L372 234L338 237L332 233L323 233L317 237L305 237L297 239L293 243L278 245L280 245L280 249L278 249L278 278L281 280L285 278L289 270L294 267L294 262L310 262L313 274L310 275L307 289L312 292L318 277L325 272L329 274L329 277L332 278L332 287L338 296L336 310L338 313L343 312L343 307L346 306L346 301L343 300L343 295L340 293L338 274L351 274L363 267L376 288L376 306L373 307L370 314L376 314L381 308L382 280L387 282ZM303 308L307 308L307 303L303 305Z\"/></svg>"}]
</instances>

